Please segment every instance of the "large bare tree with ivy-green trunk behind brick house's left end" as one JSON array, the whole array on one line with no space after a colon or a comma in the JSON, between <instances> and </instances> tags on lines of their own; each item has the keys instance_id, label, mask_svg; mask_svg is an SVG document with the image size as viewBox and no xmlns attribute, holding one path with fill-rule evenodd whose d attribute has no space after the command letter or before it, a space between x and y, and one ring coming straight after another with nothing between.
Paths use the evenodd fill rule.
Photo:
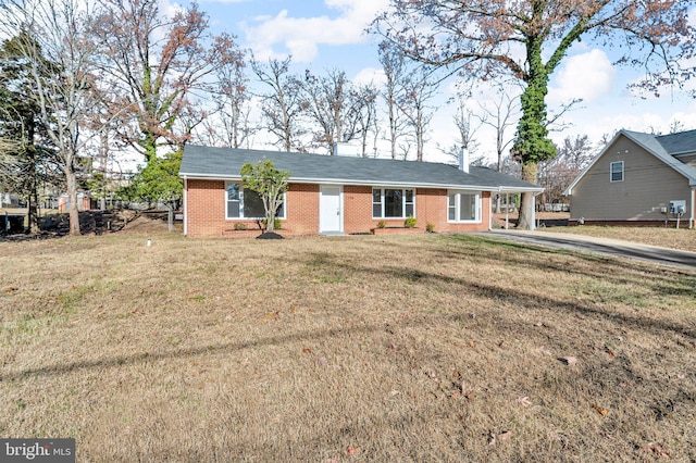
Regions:
<instances>
[{"instance_id":1,"label":"large bare tree with ivy-green trunk behind brick house's left end","mask_svg":"<svg viewBox=\"0 0 696 463\"><path fill-rule=\"evenodd\" d=\"M172 17L162 15L159 0L102 4L94 34L100 40L103 71L117 84L116 108L135 103L128 114L137 129L124 124L120 135L149 163L159 147L186 142L203 118L194 115L192 95L204 91L208 76L237 57L207 47L208 17L195 3ZM187 120L179 124L184 115Z\"/></svg>"}]
</instances>

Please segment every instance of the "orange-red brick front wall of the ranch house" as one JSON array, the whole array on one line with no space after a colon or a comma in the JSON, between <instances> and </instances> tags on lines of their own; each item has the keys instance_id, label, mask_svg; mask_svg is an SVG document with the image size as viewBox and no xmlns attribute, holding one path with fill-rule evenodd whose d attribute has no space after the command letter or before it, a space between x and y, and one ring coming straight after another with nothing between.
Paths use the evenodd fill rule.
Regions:
<instances>
[{"instance_id":1,"label":"orange-red brick front wall of the ranch house","mask_svg":"<svg viewBox=\"0 0 696 463\"><path fill-rule=\"evenodd\" d=\"M244 223L249 229L258 229L254 221L225 218L225 183L222 180L187 180L187 234L189 237L249 236L235 234L235 225ZM403 226L403 218L372 218L372 187L343 188L344 232L370 233L380 221L387 227ZM425 230L427 223L435 232L484 232L489 228L490 192L482 192L481 224L447 223L447 190L418 188L415 191L417 227ZM282 221L284 235L319 234L319 185L290 184L286 196L286 220Z\"/></svg>"}]
</instances>

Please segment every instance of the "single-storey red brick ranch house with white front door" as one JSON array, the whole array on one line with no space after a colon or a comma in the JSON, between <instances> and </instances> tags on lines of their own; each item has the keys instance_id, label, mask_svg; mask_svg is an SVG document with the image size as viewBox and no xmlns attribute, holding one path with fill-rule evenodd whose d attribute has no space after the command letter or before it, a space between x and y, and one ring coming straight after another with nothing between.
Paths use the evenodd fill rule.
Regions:
<instances>
[{"instance_id":1,"label":"single-storey red brick ranch house with white front door","mask_svg":"<svg viewBox=\"0 0 696 463\"><path fill-rule=\"evenodd\" d=\"M543 188L486 167L415 161L186 146L184 234L188 237L244 236L259 229L260 198L246 191L241 166L273 161L289 171L277 217L283 235L366 234L402 227L413 215L425 232L488 230L493 193ZM394 228L393 228L394 227ZM247 232L248 233L248 232ZM248 235L247 235L248 236Z\"/></svg>"}]
</instances>

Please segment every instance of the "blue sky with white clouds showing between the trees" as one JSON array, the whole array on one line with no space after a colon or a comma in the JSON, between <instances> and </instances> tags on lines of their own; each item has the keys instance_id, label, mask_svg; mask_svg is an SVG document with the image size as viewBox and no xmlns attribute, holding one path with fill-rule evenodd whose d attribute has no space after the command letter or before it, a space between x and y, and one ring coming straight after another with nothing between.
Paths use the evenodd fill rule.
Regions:
<instances>
[{"instance_id":1,"label":"blue sky with white clouds showing between the trees","mask_svg":"<svg viewBox=\"0 0 696 463\"><path fill-rule=\"evenodd\" d=\"M340 68L351 79L380 80L375 38L364 34L375 13L387 0L200 0L200 9L211 18L214 33L226 30L238 37L239 45L253 50L258 59L293 54L295 71L309 67L321 74ZM172 8L176 3L171 3ZM694 14L696 15L696 14ZM692 15L692 21L694 21ZM605 134L620 128L667 133L674 121L684 129L696 128L696 104L684 92L667 90L659 99L637 96L626 84L639 75L611 64L609 52L582 41L575 45L552 76L547 98L549 110L572 98L584 101L566 114L570 126L551 137L560 142L566 136L587 134L598 141ZM453 108L445 100L453 91L452 82L440 87L438 110L433 118L426 160L439 161L435 146L455 139ZM489 104L490 93L483 91L470 101L473 110ZM513 128L509 135L513 135ZM481 129L480 148L474 157L493 158L495 134Z\"/></svg>"}]
</instances>

